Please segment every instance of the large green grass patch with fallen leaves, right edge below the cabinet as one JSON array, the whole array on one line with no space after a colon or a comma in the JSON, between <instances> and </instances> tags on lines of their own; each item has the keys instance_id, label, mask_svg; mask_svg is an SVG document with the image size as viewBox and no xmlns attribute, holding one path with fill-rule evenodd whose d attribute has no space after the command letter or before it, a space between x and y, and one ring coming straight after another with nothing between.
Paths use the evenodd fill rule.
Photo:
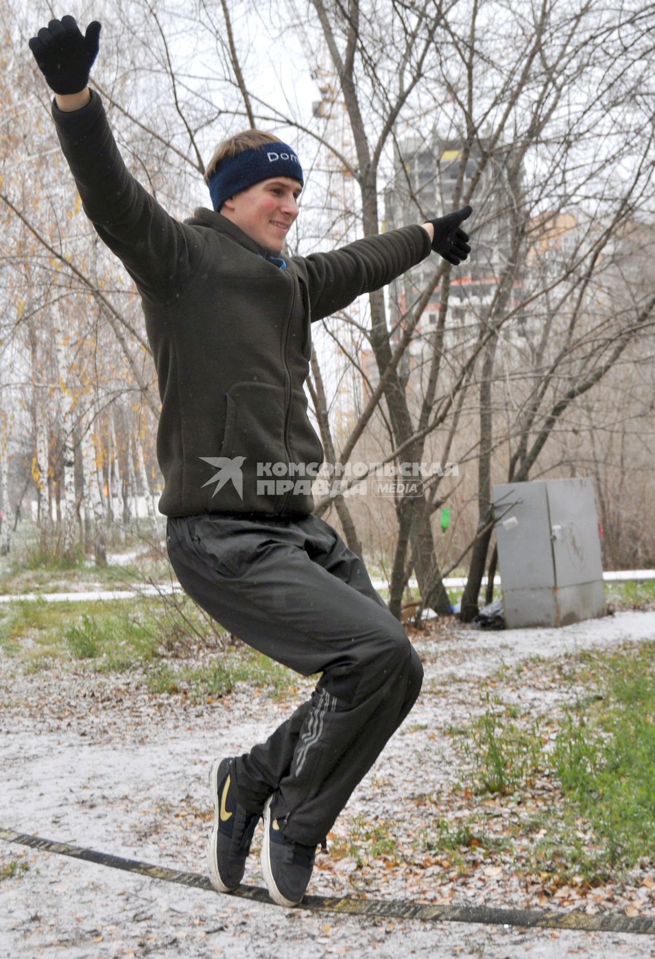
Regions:
<instances>
[{"instance_id":1,"label":"large green grass patch with fallen leaves, right edge below the cabinet","mask_svg":"<svg viewBox=\"0 0 655 959\"><path fill-rule=\"evenodd\" d=\"M463 746L471 776L481 791L513 792L517 809L533 807L537 775L555 787L521 817L526 871L545 885L621 879L655 859L655 642L586 650L548 669L563 692L575 690L569 705L537 720L487 696Z\"/></svg>"}]
</instances>

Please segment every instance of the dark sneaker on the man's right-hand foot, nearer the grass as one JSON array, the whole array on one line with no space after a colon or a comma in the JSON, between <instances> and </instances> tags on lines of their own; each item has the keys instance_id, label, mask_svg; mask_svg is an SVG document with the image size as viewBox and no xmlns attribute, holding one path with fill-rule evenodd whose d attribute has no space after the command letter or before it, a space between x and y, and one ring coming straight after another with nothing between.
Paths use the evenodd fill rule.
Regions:
<instances>
[{"instance_id":1,"label":"dark sneaker on the man's right-hand foot, nearer the grass","mask_svg":"<svg viewBox=\"0 0 655 959\"><path fill-rule=\"evenodd\" d=\"M278 905L297 905L305 895L314 869L316 846L288 839L270 816L270 796L264 807L262 871L269 896Z\"/></svg>"}]
</instances>

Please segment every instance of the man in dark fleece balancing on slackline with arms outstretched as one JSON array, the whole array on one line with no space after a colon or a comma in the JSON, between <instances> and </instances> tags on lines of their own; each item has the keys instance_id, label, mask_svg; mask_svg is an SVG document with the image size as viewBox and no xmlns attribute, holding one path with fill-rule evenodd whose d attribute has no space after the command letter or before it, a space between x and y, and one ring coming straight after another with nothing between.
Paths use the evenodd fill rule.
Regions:
<instances>
[{"instance_id":1,"label":"man in dark fleece balancing on slackline with arms outstretched","mask_svg":"<svg viewBox=\"0 0 655 959\"><path fill-rule=\"evenodd\" d=\"M362 560L312 515L323 451L303 384L310 321L380 289L436 250L470 251L470 207L340 250L287 257L303 186L292 149L258 130L225 141L213 210L175 222L129 175L87 86L100 24L70 16L30 40L55 91L58 137L84 211L141 294L162 409L157 457L168 551L186 592L279 663L321 673L268 741L210 772L214 886L235 889L264 816L272 899L302 900L316 845L409 713L423 670ZM279 479L280 476L282 479Z\"/></svg>"}]
</instances>

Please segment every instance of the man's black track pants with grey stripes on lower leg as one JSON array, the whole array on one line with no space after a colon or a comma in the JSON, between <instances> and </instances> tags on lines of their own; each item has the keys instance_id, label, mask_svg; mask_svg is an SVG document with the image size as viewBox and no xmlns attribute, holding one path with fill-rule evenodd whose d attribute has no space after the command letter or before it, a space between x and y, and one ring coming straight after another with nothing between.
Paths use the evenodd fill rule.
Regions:
<instances>
[{"instance_id":1,"label":"man's black track pants with grey stripes on lower leg","mask_svg":"<svg viewBox=\"0 0 655 959\"><path fill-rule=\"evenodd\" d=\"M305 676L309 702L237 761L239 800L295 842L332 828L352 790L409 713L423 667L362 560L327 523L201 514L169 518L184 590L221 625Z\"/></svg>"}]
</instances>

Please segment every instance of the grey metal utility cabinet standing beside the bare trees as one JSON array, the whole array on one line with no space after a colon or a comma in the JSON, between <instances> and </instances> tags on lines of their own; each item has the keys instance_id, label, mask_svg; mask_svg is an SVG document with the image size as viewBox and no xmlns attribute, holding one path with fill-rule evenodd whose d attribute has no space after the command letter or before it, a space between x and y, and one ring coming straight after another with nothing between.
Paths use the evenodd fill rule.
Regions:
<instances>
[{"instance_id":1,"label":"grey metal utility cabinet standing beside the bare trees","mask_svg":"<svg viewBox=\"0 0 655 959\"><path fill-rule=\"evenodd\" d=\"M507 628L604 616L593 480L501 483L493 499Z\"/></svg>"}]
</instances>

